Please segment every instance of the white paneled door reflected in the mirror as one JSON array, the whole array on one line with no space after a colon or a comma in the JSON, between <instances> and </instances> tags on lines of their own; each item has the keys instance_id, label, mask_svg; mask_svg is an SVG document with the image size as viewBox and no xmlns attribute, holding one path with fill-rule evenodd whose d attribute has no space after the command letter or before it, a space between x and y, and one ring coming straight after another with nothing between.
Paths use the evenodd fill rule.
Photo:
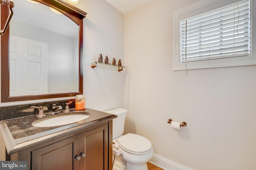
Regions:
<instances>
[{"instance_id":1,"label":"white paneled door reflected in the mirror","mask_svg":"<svg viewBox=\"0 0 256 170\"><path fill-rule=\"evenodd\" d=\"M48 94L47 58L46 43L10 35L10 96Z\"/></svg>"}]
</instances>

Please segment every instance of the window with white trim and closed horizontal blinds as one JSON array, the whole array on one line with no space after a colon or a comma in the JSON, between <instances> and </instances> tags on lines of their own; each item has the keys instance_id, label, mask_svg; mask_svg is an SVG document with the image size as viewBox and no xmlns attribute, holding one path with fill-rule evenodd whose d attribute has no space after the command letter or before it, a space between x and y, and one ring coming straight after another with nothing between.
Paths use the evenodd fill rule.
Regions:
<instances>
[{"instance_id":1,"label":"window with white trim and closed horizontal blinds","mask_svg":"<svg viewBox=\"0 0 256 170\"><path fill-rule=\"evenodd\" d=\"M251 6L251 0L203 0L174 11L173 70L256 64Z\"/></svg>"}]
</instances>

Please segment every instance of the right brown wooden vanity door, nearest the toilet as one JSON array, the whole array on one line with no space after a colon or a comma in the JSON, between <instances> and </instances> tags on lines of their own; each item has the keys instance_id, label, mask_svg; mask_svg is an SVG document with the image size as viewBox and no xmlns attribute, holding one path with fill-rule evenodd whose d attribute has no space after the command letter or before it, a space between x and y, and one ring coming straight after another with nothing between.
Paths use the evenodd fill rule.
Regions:
<instances>
[{"instance_id":1,"label":"right brown wooden vanity door, nearest the toilet","mask_svg":"<svg viewBox=\"0 0 256 170\"><path fill-rule=\"evenodd\" d=\"M80 170L108 170L108 125L80 134Z\"/></svg>"}]
</instances>

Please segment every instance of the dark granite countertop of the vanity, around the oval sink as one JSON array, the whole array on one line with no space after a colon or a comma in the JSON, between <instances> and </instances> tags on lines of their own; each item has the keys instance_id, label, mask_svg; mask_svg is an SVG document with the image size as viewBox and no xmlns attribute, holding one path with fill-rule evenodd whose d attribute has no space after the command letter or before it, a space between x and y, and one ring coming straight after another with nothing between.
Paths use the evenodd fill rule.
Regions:
<instances>
[{"instance_id":1,"label":"dark granite countertop of the vanity, around the oval sink","mask_svg":"<svg viewBox=\"0 0 256 170\"><path fill-rule=\"evenodd\" d=\"M36 117L37 115L29 115L0 121L0 131L2 132L8 154L28 149L52 139L74 133L75 131L96 125L97 123L109 121L117 117L116 115L89 108L81 111L89 113L90 116L82 121L54 127L34 127L32 123L40 119ZM52 115L46 114L45 117L50 116Z\"/></svg>"}]
</instances>

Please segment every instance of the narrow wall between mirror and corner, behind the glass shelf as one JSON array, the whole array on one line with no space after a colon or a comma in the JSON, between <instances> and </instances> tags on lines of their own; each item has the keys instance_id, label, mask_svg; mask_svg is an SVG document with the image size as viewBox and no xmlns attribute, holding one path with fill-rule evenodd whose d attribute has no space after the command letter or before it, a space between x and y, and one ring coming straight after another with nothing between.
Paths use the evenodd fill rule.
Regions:
<instances>
[{"instance_id":1,"label":"narrow wall between mirror and corner, behind the glass shelf","mask_svg":"<svg viewBox=\"0 0 256 170\"><path fill-rule=\"evenodd\" d=\"M80 2L80 1L79 1ZM89 108L106 111L124 107L125 70L118 72L114 68L91 68L98 61L100 53L103 59L108 55L112 59L121 59L124 64L124 14L116 10L105 0L84 0L80 8L86 11L84 19L84 91Z\"/></svg>"}]
</instances>

